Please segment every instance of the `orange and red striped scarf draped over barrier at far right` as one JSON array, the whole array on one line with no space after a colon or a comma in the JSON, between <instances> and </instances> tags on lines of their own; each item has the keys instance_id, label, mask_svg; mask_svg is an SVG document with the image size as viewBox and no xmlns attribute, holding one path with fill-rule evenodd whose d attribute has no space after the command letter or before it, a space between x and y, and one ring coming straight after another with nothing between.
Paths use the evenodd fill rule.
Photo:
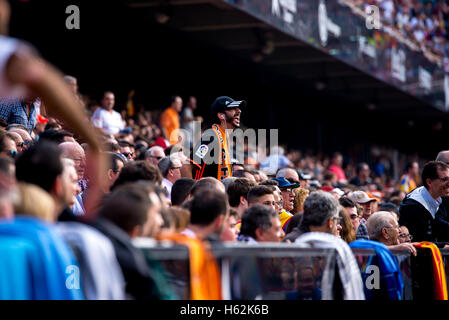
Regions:
<instances>
[{"instance_id":1,"label":"orange and red striped scarf draped over barrier at far right","mask_svg":"<svg viewBox=\"0 0 449 320\"><path fill-rule=\"evenodd\" d=\"M444 270L443 258L438 247L432 243L423 241L413 244L416 248L427 248L432 252L433 279L436 300L448 300L446 272Z\"/></svg>"}]
</instances>

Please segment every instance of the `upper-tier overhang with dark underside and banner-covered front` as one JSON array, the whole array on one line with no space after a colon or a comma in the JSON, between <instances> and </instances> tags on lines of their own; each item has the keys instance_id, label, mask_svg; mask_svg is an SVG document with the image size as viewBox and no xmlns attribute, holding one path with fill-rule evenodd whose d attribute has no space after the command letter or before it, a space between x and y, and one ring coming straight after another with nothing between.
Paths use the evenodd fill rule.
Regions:
<instances>
[{"instance_id":1,"label":"upper-tier overhang with dark underside and banner-covered front","mask_svg":"<svg viewBox=\"0 0 449 320\"><path fill-rule=\"evenodd\" d=\"M416 70L410 70L410 63L419 59L410 58L408 48L394 41L397 57L388 56L390 60L385 61L379 55L373 59L376 52L370 41L379 34L362 36L361 41L354 35L363 35L366 30L351 31L342 22L347 17L334 18L334 22L342 22L340 27L332 22L339 9L336 6L342 1L128 0L126 4L132 10L144 10L148 17L167 27L287 75L298 87L322 91L348 105L389 116L445 119L448 114L442 66L427 61L423 68L415 66ZM327 4L324 33L320 30L322 15L308 16L322 11L323 3ZM292 7L294 4L297 6ZM411 62L401 62L401 48ZM395 61L403 66L390 70ZM404 81L403 77L410 79Z\"/></svg>"}]
</instances>

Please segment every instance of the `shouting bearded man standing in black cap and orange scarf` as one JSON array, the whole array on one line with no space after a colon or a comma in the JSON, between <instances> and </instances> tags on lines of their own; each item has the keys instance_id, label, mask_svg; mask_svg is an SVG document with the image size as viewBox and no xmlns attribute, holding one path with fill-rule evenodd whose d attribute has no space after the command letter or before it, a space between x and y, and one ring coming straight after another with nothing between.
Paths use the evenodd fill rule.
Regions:
<instances>
[{"instance_id":1,"label":"shouting bearded man standing in black cap and orange scarf","mask_svg":"<svg viewBox=\"0 0 449 320\"><path fill-rule=\"evenodd\" d=\"M192 159L198 164L193 166L192 177L214 177L223 180L232 177L229 134L240 127L240 114L246 107L246 101L236 101L222 96L215 99L211 106L212 127L194 144Z\"/></svg>"}]
</instances>

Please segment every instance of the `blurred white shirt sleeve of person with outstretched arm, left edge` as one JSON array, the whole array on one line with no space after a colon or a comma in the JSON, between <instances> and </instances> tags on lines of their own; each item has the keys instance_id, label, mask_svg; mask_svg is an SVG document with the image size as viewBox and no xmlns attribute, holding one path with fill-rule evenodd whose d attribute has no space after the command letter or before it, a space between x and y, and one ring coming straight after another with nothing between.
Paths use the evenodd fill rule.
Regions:
<instances>
[{"instance_id":1,"label":"blurred white shirt sleeve of person with outstretched arm, left edge","mask_svg":"<svg viewBox=\"0 0 449 320\"><path fill-rule=\"evenodd\" d=\"M25 88L22 86L12 86L6 79L6 64L11 55L25 47L22 43L14 38L0 36L0 99L17 100L25 95Z\"/></svg>"}]
</instances>

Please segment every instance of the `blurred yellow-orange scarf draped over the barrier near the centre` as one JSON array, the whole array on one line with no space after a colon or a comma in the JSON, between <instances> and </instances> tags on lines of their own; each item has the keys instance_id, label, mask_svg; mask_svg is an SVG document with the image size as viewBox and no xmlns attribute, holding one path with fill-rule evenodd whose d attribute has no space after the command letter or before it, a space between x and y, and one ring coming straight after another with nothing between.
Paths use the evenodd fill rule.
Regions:
<instances>
[{"instance_id":1,"label":"blurred yellow-orange scarf draped over the barrier near the centre","mask_svg":"<svg viewBox=\"0 0 449 320\"><path fill-rule=\"evenodd\" d=\"M165 235L158 240L171 240L189 248L191 300L222 300L217 261L203 242L182 234Z\"/></svg>"}]
</instances>

